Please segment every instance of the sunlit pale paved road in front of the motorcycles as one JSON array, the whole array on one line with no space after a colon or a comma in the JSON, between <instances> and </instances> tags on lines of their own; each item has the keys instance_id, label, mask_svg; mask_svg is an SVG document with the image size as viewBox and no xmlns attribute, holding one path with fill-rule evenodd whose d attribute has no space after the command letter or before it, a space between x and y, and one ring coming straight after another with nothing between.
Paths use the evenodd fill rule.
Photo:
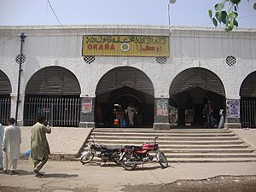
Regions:
<instances>
[{"instance_id":1,"label":"sunlit pale paved road in front of the motorcycles","mask_svg":"<svg viewBox=\"0 0 256 192\"><path fill-rule=\"evenodd\" d=\"M37 178L32 173L32 162L19 160L18 171L20 174L15 176L1 174L0 185L54 192L130 191L132 186L151 185L155 191L156 186L166 186L180 179L211 181L212 177L224 175L256 176L256 162L173 163L166 169L152 163L129 172L113 163L99 166L94 162L83 166L79 161L49 161L42 170L44 177ZM253 181L256 183L256 177Z\"/></svg>"}]
</instances>

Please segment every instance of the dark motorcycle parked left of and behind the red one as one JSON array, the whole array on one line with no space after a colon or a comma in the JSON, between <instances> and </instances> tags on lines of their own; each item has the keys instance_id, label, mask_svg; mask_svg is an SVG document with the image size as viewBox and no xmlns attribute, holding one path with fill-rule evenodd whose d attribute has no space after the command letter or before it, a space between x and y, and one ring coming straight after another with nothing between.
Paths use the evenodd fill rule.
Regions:
<instances>
[{"instance_id":1,"label":"dark motorcycle parked left of and behind the red one","mask_svg":"<svg viewBox=\"0 0 256 192\"><path fill-rule=\"evenodd\" d=\"M120 165L119 155L121 154L121 145L104 145L96 143L94 137L91 138L92 142L87 144L87 147L80 157L80 162L83 165L89 163L95 156L102 159L103 165L105 165L107 161L113 161L117 165Z\"/></svg>"}]
</instances>

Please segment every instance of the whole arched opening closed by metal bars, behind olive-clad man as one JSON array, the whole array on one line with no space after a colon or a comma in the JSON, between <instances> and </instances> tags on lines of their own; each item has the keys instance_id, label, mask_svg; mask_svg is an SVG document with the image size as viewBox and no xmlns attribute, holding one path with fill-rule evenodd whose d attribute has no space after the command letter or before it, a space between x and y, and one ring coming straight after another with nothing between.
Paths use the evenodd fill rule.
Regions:
<instances>
[{"instance_id":1,"label":"whole arched opening closed by metal bars, behind olive-clad man","mask_svg":"<svg viewBox=\"0 0 256 192\"><path fill-rule=\"evenodd\" d=\"M44 115L54 126L79 126L80 85L63 67L45 67L26 85L24 124L33 125Z\"/></svg>"}]
</instances>

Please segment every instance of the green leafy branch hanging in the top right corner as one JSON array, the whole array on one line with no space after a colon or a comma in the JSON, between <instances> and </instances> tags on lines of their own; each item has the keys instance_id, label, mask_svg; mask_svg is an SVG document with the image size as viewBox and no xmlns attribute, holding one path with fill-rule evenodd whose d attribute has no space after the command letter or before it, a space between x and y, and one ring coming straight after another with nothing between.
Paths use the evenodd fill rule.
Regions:
<instances>
[{"instance_id":1,"label":"green leafy branch hanging in the top right corner","mask_svg":"<svg viewBox=\"0 0 256 192\"><path fill-rule=\"evenodd\" d=\"M213 9L208 11L213 25L223 24L225 32L231 32L235 26L237 27L236 18L238 17L239 3L241 3L241 0L223 0L220 3L216 3ZM253 9L256 10L256 3L253 3Z\"/></svg>"}]
</instances>

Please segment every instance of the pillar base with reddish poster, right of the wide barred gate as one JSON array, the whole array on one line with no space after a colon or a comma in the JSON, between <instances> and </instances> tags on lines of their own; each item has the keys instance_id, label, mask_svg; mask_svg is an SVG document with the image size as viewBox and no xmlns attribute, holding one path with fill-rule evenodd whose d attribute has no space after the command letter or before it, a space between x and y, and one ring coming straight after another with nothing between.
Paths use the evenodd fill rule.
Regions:
<instances>
[{"instance_id":1,"label":"pillar base with reddish poster, right of the wide barred gate","mask_svg":"<svg viewBox=\"0 0 256 192\"><path fill-rule=\"evenodd\" d=\"M81 97L81 113L79 127L93 128L95 127L95 97Z\"/></svg>"}]
</instances>

